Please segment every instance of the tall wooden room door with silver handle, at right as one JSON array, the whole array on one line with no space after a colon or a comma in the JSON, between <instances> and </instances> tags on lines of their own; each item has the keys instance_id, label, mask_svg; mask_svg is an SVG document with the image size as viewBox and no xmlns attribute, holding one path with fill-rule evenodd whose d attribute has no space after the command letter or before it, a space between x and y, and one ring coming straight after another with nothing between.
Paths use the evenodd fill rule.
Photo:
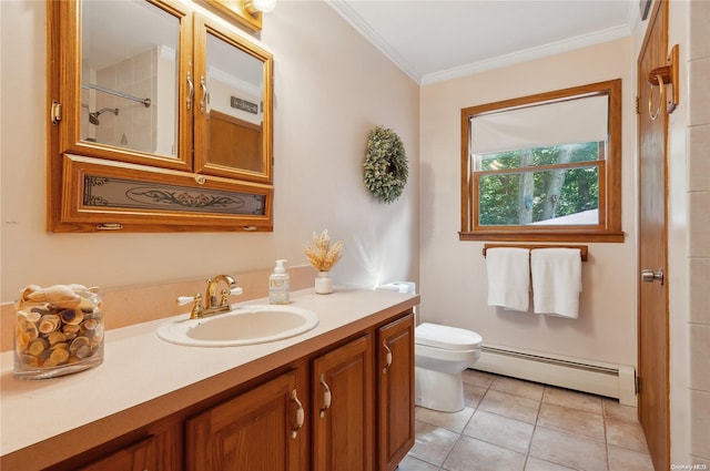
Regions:
<instances>
[{"instance_id":1,"label":"tall wooden room door with silver handle, at right","mask_svg":"<svg viewBox=\"0 0 710 471\"><path fill-rule=\"evenodd\" d=\"M667 267L667 113L649 72L666 65L668 2L658 0L638 58L639 96L639 268L661 274ZM668 89L670 90L670 88ZM667 91L668 91L667 90ZM652 95L649 112L649 95ZM660 107L656 120L651 113ZM639 281L639 420L656 470L670 467L668 274ZM650 278L650 279L649 279Z\"/></svg>"}]
</instances>

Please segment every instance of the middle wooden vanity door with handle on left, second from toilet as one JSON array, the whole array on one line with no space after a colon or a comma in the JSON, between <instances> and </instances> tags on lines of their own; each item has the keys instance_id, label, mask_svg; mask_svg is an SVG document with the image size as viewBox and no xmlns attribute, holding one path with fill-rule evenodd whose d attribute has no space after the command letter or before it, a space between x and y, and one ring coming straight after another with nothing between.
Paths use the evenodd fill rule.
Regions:
<instances>
[{"instance_id":1,"label":"middle wooden vanity door with handle on left, second from toilet","mask_svg":"<svg viewBox=\"0 0 710 471\"><path fill-rule=\"evenodd\" d=\"M373 469L372 369L368 335L314 360L314 471Z\"/></svg>"}]
</instances>

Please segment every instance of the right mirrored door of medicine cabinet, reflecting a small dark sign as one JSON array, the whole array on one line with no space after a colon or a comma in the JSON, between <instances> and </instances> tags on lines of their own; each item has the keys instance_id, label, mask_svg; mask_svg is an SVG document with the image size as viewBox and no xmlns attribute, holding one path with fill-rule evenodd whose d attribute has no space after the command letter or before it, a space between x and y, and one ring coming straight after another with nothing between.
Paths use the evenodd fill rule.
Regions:
<instances>
[{"instance_id":1,"label":"right mirrored door of medicine cabinet, reflecting a small dark sign","mask_svg":"<svg viewBox=\"0 0 710 471\"><path fill-rule=\"evenodd\" d=\"M271 182L271 54L202 16L195 34L196 171Z\"/></svg>"}]
</instances>

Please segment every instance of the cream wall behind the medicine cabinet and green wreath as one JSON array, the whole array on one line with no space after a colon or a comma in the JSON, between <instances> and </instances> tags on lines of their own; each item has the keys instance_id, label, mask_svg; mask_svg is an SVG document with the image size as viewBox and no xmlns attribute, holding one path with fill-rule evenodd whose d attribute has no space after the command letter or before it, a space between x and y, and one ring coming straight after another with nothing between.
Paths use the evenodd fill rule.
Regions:
<instances>
[{"instance_id":1,"label":"cream wall behind the medicine cabinet and green wreath","mask_svg":"<svg viewBox=\"0 0 710 471\"><path fill-rule=\"evenodd\" d=\"M275 258L303 265L303 244L326 227L345 243L336 283L417 279L418 85L325 2L280 2L264 18L262 45L275 64L270 234L48 234L44 2L0 8L3 303L28 284L119 287L267 268ZM410 162L392 205L362 182L367 132L379 124L399 134Z\"/></svg>"}]
</instances>

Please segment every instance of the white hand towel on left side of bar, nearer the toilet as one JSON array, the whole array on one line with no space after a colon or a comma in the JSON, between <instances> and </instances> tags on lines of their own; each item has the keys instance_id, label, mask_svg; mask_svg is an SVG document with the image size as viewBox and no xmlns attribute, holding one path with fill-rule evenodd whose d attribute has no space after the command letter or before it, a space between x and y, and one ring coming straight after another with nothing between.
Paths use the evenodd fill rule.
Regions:
<instances>
[{"instance_id":1,"label":"white hand towel on left side of bar, nearer the toilet","mask_svg":"<svg viewBox=\"0 0 710 471\"><path fill-rule=\"evenodd\" d=\"M527 311L530 304L530 250L495 247L486 250L488 306Z\"/></svg>"}]
</instances>

